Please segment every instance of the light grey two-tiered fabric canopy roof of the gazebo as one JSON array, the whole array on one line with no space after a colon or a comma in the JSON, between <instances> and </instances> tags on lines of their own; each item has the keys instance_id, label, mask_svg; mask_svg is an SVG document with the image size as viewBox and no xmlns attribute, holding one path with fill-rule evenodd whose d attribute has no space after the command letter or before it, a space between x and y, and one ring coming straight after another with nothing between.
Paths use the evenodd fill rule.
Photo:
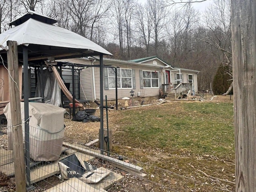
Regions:
<instances>
[{"instance_id":1,"label":"light grey two-tiered fabric canopy roof of the gazebo","mask_svg":"<svg viewBox=\"0 0 256 192\"><path fill-rule=\"evenodd\" d=\"M64 28L52 24L58 22L34 11L29 11L10 22L13 28L0 34L2 46L8 40L16 41L19 46L28 47L28 58L42 60L47 57L69 58L93 55L112 55L98 44ZM0 53L5 52L0 48ZM19 50L21 53L22 51ZM42 56L45 56L42 57Z\"/></svg>"}]
</instances>

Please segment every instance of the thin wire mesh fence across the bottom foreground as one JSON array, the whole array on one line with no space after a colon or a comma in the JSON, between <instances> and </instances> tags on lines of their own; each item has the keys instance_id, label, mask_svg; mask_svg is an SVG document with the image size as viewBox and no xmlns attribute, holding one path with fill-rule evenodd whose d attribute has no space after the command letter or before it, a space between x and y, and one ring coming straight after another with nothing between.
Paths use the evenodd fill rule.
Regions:
<instances>
[{"instance_id":1,"label":"thin wire mesh fence across the bottom foreground","mask_svg":"<svg viewBox=\"0 0 256 192\"><path fill-rule=\"evenodd\" d=\"M12 150L8 150L11 144L10 128L10 120L0 118L0 178L6 179L6 186L1 190L7 191L15 190L13 154ZM195 172L184 175L156 167L150 162L99 150L97 140L87 144L80 140L65 142L64 131L63 128L52 133L30 126L28 191L217 192L232 191L234 188L233 182ZM196 170L192 165L191 168Z\"/></svg>"}]
</instances>

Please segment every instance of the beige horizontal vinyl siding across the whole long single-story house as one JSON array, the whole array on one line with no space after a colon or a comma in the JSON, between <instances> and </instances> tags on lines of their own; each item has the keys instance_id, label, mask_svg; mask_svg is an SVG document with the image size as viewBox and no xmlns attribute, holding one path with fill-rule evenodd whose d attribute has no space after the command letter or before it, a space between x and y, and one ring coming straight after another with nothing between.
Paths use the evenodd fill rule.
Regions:
<instances>
[{"instance_id":1,"label":"beige horizontal vinyl siding across the whole long single-story house","mask_svg":"<svg viewBox=\"0 0 256 192\"><path fill-rule=\"evenodd\" d=\"M77 64L92 64L92 60L86 60L81 58L75 59L67 59L68 62L73 62ZM135 82L136 88L134 86L132 88L118 88L118 99L122 99L123 97L130 97L130 91L134 90L134 97L136 98L138 92L140 92L141 97L150 97L150 96L160 96L159 88L162 88L162 84L164 82L164 74L162 73L162 66L166 66L164 63L157 61L157 65L153 65L153 60L142 62L142 63L133 63L133 62L126 62L122 60L112 60L109 58L105 58L103 60L104 65L108 66L116 66L125 69L131 69L135 72ZM98 65L99 61L97 60L94 64ZM140 70L147 70L147 71L157 71L159 72L159 87L158 88L140 88ZM178 70L170 72L171 82L174 84L175 76L174 74L179 73ZM197 92L197 76L195 72L189 71L182 71L181 74L183 75L183 81L187 82L187 74L193 74L193 82L194 82L194 91ZM103 78L104 80L104 78ZM92 79L92 68L83 69L80 74L80 81L82 87L84 88L84 92L86 94L87 100L93 101L95 99L100 100L100 68L94 68L94 81L95 81L95 92L96 98L94 98L94 88L93 88L93 79ZM132 81L133 82L133 81ZM104 82L103 82L104 83ZM85 99L84 93L82 92L82 87L80 86L80 98ZM107 95L108 100L115 100L116 99L116 90L115 88L110 88L108 90L103 90L103 99L105 100L105 96Z\"/></svg>"}]
</instances>

